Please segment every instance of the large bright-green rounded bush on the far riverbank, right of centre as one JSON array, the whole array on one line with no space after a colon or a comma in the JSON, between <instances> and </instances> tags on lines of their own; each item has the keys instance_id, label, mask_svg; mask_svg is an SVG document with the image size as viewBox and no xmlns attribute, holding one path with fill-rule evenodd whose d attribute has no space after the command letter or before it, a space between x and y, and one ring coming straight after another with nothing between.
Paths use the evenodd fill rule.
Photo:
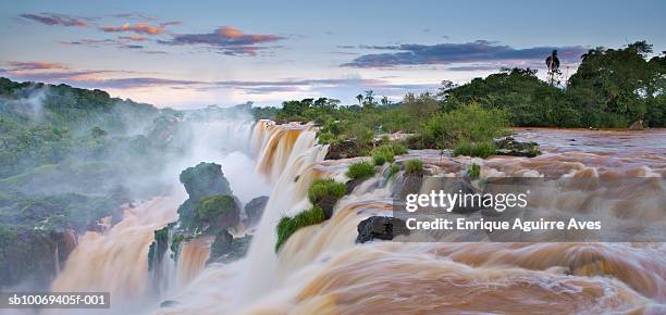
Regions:
<instances>
[{"instance_id":1,"label":"large bright-green rounded bush on the far riverbank, right of centre","mask_svg":"<svg viewBox=\"0 0 666 315\"><path fill-rule=\"evenodd\" d=\"M422 126L421 142L427 148L451 148L461 142L485 142L506 133L508 115L499 109L469 103L432 116Z\"/></svg>"}]
</instances>

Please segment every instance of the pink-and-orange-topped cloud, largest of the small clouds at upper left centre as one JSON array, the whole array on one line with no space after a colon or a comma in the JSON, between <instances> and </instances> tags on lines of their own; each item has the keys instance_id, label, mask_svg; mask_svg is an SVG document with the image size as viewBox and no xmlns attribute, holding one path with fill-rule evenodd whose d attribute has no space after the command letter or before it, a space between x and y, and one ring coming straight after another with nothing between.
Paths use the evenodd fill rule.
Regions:
<instances>
[{"instance_id":1,"label":"pink-and-orange-topped cloud, largest of the small clouds at upper left centre","mask_svg":"<svg viewBox=\"0 0 666 315\"><path fill-rule=\"evenodd\" d=\"M245 34L238 28L223 26L207 34L181 34L171 40L159 40L163 45L202 45L220 50L230 55L256 55L257 50L263 49L258 45L284 39L278 35Z\"/></svg>"}]
</instances>

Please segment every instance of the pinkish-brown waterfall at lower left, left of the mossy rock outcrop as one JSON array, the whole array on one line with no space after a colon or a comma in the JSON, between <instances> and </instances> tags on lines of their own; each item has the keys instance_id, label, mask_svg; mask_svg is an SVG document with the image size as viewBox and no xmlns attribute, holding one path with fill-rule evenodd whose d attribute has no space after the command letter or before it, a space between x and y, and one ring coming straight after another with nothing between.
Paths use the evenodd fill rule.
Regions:
<instances>
[{"instance_id":1,"label":"pinkish-brown waterfall at lower left, left of the mossy rock outcrop","mask_svg":"<svg viewBox=\"0 0 666 315\"><path fill-rule=\"evenodd\" d=\"M86 232L51 290L111 292L116 301L138 302L145 298L149 280L147 253L153 231L176 218L183 197L175 193L152 199L126 209L123 220L109 230Z\"/></svg>"}]
</instances>

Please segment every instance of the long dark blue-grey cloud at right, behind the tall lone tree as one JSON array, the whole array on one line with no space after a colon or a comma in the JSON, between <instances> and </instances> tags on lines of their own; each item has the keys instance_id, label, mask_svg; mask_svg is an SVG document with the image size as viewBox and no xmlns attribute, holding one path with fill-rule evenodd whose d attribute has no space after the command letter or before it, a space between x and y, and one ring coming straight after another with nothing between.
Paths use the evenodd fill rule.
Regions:
<instances>
[{"instance_id":1,"label":"long dark blue-grey cloud at right, behind the tall lone tree","mask_svg":"<svg viewBox=\"0 0 666 315\"><path fill-rule=\"evenodd\" d=\"M441 65L474 62L510 62L544 60L557 49L563 61L578 61L587 49L581 46L533 47L517 49L497 42L477 40L464 43L363 46L362 49L390 50L385 53L365 54L342 66L395 67L400 65Z\"/></svg>"}]
</instances>

